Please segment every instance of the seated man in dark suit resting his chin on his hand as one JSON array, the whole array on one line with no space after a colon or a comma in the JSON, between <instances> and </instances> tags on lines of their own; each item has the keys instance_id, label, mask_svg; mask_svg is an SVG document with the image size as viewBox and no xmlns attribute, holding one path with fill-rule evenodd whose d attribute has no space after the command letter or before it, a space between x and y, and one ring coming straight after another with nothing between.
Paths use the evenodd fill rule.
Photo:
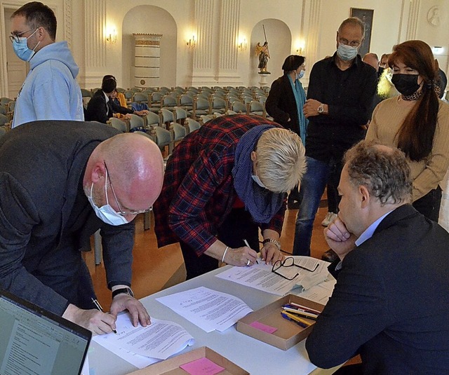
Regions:
<instances>
[{"instance_id":1,"label":"seated man in dark suit resting his chin on his hand","mask_svg":"<svg viewBox=\"0 0 449 375\"><path fill-rule=\"evenodd\" d=\"M449 233L410 204L404 154L361 141L338 190L340 212L324 230L340 257L337 284L307 339L311 362L360 354L336 374L449 374Z\"/></svg>"}]
</instances>

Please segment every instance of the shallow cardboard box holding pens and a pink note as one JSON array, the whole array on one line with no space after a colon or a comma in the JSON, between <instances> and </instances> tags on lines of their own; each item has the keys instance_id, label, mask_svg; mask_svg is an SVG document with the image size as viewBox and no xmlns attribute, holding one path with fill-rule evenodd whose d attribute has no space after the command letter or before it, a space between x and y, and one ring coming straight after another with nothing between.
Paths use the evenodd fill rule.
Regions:
<instances>
[{"instance_id":1,"label":"shallow cardboard box holding pens and a pink note","mask_svg":"<svg viewBox=\"0 0 449 375\"><path fill-rule=\"evenodd\" d=\"M237 322L237 331L254 337L257 340L269 343L270 345L276 346L276 348L282 350L291 348L309 336L313 325L307 328L302 328L295 322L290 322L290 320L282 318L282 306L290 302L307 306L317 311L323 311L324 308L324 305L317 304L316 302L309 301L308 299L301 298L300 296L295 296L294 294L288 294L287 296L274 301L272 304L269 304L268 306L265 306L264 308L254 311L253 313L246 315L246 317L241 318L241 320ZM308 321L314 323L314 320ZM264 332L250 326L253 322L260 322L264 325L275 327L277 330L276 332L269 334L268 332Z\"/></svg>"}]
</instances>

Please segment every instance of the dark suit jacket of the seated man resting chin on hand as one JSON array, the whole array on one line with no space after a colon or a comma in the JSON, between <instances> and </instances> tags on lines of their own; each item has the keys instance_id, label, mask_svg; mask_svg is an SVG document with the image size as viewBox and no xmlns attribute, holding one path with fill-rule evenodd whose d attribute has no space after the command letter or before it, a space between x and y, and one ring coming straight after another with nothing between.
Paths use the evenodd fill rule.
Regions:
<instances>
[{"instance_id":1,"label":"dark suit jacket of the seated man resting chin on hand","mask_svg":"<svg viewBox=\"0 0 449 375\"><path fill-rule=\"evenodd\" d=\"M403 205L344 257L306 342L329 368L359 353L363 374L449 374L449 234Z\"/></svg>"}]
</instances>

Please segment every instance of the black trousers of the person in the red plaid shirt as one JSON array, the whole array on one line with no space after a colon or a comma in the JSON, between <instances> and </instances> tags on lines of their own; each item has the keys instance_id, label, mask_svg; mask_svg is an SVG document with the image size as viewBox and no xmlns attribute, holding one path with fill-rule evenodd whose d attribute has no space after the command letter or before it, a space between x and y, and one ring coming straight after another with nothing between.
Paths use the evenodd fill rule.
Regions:
<instances>
[{"instance_id":1,"label":"black trousers of the person in the red plaid shirt","mask_svg":"<svg viewBox=\"0 0 449 375\"><path fill-rule=\"evenodd\" d=\"M236 248L243 247L247 240L251 249L259 251L259 226L255 224L250 213L244 208L234 208L218 229L217 238L225 245ZM182 257L184 257L187 280L203 275L218 268L218 261L206 254L200 257L187 243L180 241ZM228 250L230 251L230 250Z\"/></svg>"}]
</instances>

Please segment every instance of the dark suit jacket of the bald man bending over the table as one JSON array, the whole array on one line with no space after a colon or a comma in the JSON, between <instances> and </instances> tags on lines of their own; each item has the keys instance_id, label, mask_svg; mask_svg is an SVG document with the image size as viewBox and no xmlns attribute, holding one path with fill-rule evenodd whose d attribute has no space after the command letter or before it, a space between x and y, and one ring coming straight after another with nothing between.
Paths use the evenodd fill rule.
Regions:
<instances>
[{"instance_id":1,"label":"dark suit jacket of the bald man bending over the table","mask_svg":"<svg viewBox=\"0 0 449 375\"><path fill-rule=\"evenodd\" d=\"M79 250L98 229L109 287L130 285L134 224L103 223L83 192L93 149L117 133L99 123L35 121L1 137L0 287L62 315L78 292Z\"/></svg>"}]
</instances>

